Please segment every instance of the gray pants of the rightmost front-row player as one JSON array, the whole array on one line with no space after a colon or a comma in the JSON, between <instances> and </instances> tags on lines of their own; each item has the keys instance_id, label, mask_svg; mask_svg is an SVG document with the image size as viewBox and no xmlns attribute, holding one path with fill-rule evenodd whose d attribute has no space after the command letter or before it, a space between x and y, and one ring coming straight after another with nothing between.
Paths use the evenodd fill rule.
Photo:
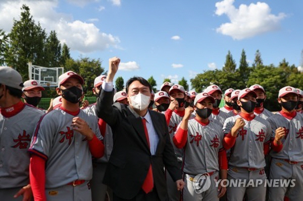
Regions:
<instances>
[{"instance_id":1,"label":"gray pants of the rightmost front-row player","mask_svg":"<svg viewBox=\"0 0 303 201\"><path fill-rule=\"evenodd\" d=\"M302 200L303 197L303 162L289 164L281 159L272 159L270 178L288 180L294 179L294 186L282 186L269 188L269 200L283 201L287 193L289 200ZM291 184L291 182L290 182Z\"/></svg>"}]
</instances>

